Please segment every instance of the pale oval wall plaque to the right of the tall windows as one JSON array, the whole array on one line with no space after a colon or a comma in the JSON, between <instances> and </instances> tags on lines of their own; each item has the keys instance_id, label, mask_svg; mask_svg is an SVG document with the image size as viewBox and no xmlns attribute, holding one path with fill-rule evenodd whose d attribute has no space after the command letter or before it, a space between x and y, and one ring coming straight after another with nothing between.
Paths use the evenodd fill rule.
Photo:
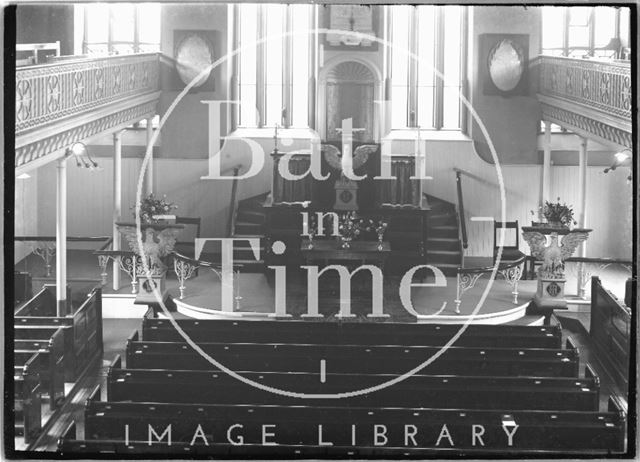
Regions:
<instances>
[{"instance_id":1,"label":"pale oval wall plaque to the right of the tall windows","mask_svg":"<svg viewBox=\"0 0 640 462\"><path fill-rule=\"evenodd\" d=\"M500 40L489 52L489 75L501 91L512 91L520 83L524 73L524 53L520 46L509 39Z\"/></svg>"}]
</instances>

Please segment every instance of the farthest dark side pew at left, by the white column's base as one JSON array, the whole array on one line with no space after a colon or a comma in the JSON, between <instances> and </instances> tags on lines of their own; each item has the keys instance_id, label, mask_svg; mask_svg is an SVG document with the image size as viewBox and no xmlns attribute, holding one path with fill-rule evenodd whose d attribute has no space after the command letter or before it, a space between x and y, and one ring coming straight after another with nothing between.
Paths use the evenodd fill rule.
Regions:
<instances>
[{"instance_id":1,"label":"farthest dark side pew at left, by the white column's base","mask_svg":"<svg viewBox=\"0 0 640 462\"><path fill-rule=\"evenodd\" d=\"M16 338L42 340L18 332L21 328L61 327L64 332L65 380L75 381L90 362L102 356L102 289L97 287L72 314L57 317L50 312L46 287L25 304L15 317ZM34 300L38 300L37 302Z\"/></svg>"}]
</instances>

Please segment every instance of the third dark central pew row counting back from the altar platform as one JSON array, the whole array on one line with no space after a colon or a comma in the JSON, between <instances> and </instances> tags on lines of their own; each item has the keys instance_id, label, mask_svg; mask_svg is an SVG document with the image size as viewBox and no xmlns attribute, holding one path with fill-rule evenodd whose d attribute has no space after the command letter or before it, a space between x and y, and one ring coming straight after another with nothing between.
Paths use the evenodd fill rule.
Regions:
<instances>
[{"instance_id":1,"label":"third dark central pew row counting back from the altar platform","mask_svg":"<svg viewBox=\"0 0 640 462\"><path fill-rule=\"evenodd\" d=\"M224 372L121 369L116 358L109 368L107 395L111 401L157 401L215 404L317 404L317 399L293 399L259 390ZM397 374L240 372L263 386L301 393L344 393L367 389L397 377ZM322 403L354 406L425 406L469 409L598 409L599 378L587 365L587 376L576 378L535 378L456 375L414 375L376 392L347 400L323 399Z\"/></svg>"}]
</instances>

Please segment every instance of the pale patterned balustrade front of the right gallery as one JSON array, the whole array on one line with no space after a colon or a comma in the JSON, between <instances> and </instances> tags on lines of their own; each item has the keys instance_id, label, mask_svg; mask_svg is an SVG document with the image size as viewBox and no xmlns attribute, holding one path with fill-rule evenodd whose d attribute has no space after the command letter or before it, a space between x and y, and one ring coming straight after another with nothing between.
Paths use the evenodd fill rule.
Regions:
<instances>
[{"instance_id":1,"label":"pale patterned balustrade front of the right gallery","mask_svg":"<svg viewBox=\"0 0 640 462\"><path fill-rule=\"evenodd\" d=\"M538 65L540 94L631 119L631 67L628 61L541 56Z\"/></svg>"}]
</instances>

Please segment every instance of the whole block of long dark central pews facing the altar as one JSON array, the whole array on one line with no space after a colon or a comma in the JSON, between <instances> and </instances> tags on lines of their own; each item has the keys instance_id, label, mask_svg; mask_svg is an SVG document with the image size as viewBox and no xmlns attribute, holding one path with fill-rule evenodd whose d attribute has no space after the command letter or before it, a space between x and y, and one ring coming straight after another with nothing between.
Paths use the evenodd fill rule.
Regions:
<instances>
[{"instance_id":1,"label":"whole block of long dark central pews facing the altar","mask_svg":"<svg viewBox=\"0 0 640 462\"><path fill-rule=\"evenodd\" d=\"M559 325L471 325L454 346L405 380L328 397L397 378L438 353L459 326L175 322L182 333L170 320L145 317L124 358L116 357L108 370L106 401L100 387L87 401L84 438L77 439L73 424L60 439L63 455L317 458L624 450L622 404L610 397L600 411L599 378L588 364L581 376L579 351L570 338L563 342Z\"/></svg>"}]
</instances>

